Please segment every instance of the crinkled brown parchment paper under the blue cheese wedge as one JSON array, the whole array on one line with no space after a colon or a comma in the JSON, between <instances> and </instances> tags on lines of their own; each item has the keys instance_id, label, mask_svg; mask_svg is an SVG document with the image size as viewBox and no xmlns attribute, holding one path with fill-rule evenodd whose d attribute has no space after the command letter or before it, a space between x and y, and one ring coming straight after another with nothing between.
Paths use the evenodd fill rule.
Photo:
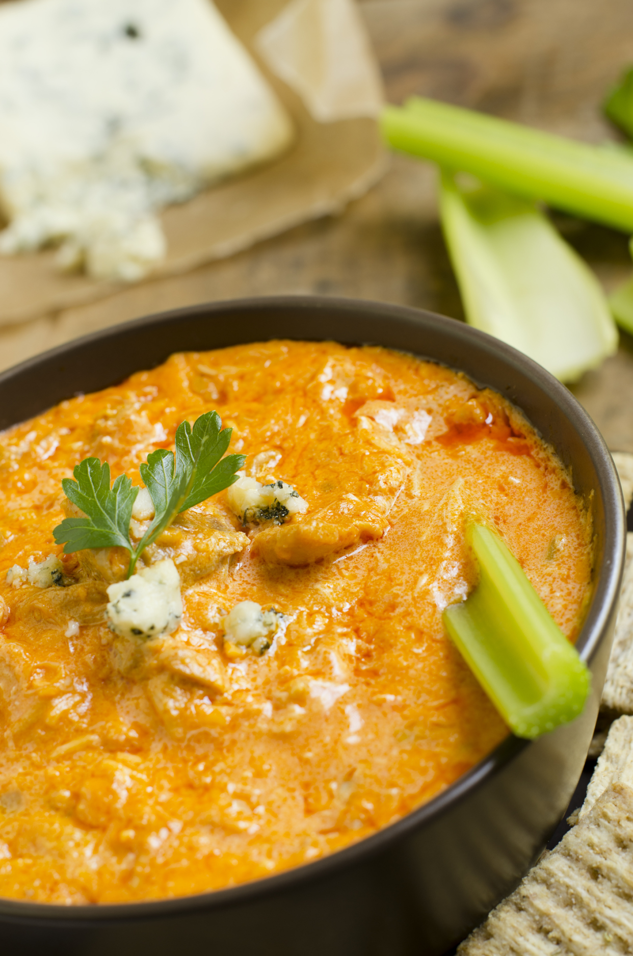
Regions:
<instances>
[{"instance_id":1,"label":"crinkled brown parchment paper under the blue cheese wedge","mask_svg":"<svg viewBox=\"0 0 633 956\"><path fill-rule=\"evenodd\" d=\"M167 256L153 276L188 272L338 212L385 168L371 119L382 98L380 76L354 0L219 0L216 5L292 114L296 141L276 162L167 208L162 216ZM280 14L281 21L276 19ZM312 51L311 69L297 71L307 49ZM346 67L341 70L343 52ZM41 320L120 289L58 272L54 251L0 257L0 326L13 326L6 338L0 331L0 359L3 346L24 354L17 341L22 330L15 323ZM32 338L33 327L23 333Z\"/></svg>"}]
</instances>

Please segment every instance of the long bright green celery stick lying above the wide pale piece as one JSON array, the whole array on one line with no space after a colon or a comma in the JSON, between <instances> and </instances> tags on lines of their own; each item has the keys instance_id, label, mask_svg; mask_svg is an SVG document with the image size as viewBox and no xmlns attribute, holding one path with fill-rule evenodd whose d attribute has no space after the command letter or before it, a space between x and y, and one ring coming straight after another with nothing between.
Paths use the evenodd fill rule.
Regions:
<instances>
[{"instance_id":1,"label":"long bright green celery stick lying above the wide pale piece","mask_svg":"<svg viewBox=\"0 0 633 956\"><path fill-rule=\"evenodd\" d=\"M633 157L529 126L411 98L382 111L394 148L464 169L500 189L633 231Z\"/></svg>"}]
</instances>

